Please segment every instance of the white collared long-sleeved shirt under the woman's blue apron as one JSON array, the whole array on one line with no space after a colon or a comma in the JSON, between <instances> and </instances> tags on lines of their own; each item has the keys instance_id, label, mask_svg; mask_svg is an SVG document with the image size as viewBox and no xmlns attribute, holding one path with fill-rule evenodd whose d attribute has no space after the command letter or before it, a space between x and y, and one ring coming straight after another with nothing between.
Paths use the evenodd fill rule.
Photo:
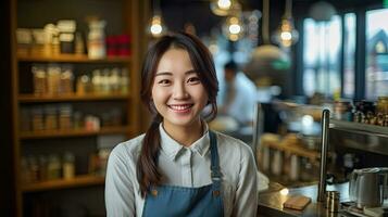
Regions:
<instances>
[{"instance_id":1,"label":"white collared long-sleeved shirt under the woman's blue apron","mask_svg":"<svg viewBox=\"0 0 388 217\"><path fill-rule=\"evenodd\" d=\"M205 125L202 138L186 148L171 138L162 125L159 168L163 183L202 187L210 176L210 137ZM109 217L141 216L145 200L139 193L136 163L145 135L116 145L108 162L105 205ZM256 166L251 149L242 141L216 132L225 216L256 216ZM174 207L174 204L172 204Z\"/></svg>"}]
</instances>

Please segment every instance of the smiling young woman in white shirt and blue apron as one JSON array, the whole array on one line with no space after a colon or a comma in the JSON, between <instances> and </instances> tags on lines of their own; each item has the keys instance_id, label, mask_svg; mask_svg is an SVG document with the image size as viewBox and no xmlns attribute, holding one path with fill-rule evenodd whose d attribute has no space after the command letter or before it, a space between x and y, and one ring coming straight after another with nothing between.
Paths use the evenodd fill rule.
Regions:
<instances>
[{"instance_id":1,"label":"smiling young woman in white shirt and blue apron","mask_svg":"<svg viewBox=\"0 0 388 217\"><path fill-rule=\"evenodd\" d=\"M204 122L216 115L217 91L212 56L198 38L178 33L151 47L141 99L153 120L145 135L118 144L109 157L108 216L256 215L250 148ZM203 114L206 105L210 112Z\"/></svg>"}]
</instances>

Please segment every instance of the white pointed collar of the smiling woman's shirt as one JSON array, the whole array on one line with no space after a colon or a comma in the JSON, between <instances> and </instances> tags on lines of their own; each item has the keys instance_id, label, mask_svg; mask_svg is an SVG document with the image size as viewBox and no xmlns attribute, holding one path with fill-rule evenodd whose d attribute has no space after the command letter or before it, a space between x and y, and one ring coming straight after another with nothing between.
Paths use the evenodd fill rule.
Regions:
<instances>
[{"instance_id":1,"label":"white pointed collar of the smiling woman's shirt","mask_svg":"<svg viewBox=\"0 0 388 217\"><path fill-rule=\"evenodd\" d=\"M164 130L162 123L159 125L159 131L161 135L161 151L164 152L172 161L176 159L179 152L184 149L198 152L203 157L210 148L209 126L205 122L203 122L203 136L188 148L175 141Z\"/></svg>"}]
</instances>

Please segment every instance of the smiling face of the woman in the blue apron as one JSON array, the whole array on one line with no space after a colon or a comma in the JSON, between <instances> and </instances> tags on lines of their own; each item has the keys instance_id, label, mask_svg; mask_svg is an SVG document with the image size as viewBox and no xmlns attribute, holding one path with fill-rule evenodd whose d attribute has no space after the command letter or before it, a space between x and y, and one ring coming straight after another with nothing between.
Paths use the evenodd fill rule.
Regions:
<instances>
[{"instance_id":1,"label":"smiling face of the woman in the blue apron","mask_svg":"<svg viewBox=\"0 0 388 217\"><path fill-rule=\"evenodd\" d=\"M167 50L159 62L152 85L152 100L163 117L164 127L196 126L208 99L188 52Z\"/></svg>"}]
</instances>

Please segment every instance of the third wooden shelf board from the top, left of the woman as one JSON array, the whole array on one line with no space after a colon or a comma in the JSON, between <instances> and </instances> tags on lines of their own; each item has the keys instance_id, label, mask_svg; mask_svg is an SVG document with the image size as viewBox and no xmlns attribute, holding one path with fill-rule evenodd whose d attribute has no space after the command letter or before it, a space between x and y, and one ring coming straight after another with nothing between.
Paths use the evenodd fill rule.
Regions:
<instances>
[{"instance_id":1,"label":"third wooden shelf board from the top, left of the woman","mask_svg":"<svg viewBox=\"0 0 388 217\"><path fill-rule=\"evenodd\" d=\"M72 129L72 130L41 130L20 132L21 139L46 139L46 138L60 138L60 137L87 137L97 135L114 135L127 133L130 128L127 126L118 127L102 127L100 130L86 130L86 129Z\"/></svg>"}]
</instances>

